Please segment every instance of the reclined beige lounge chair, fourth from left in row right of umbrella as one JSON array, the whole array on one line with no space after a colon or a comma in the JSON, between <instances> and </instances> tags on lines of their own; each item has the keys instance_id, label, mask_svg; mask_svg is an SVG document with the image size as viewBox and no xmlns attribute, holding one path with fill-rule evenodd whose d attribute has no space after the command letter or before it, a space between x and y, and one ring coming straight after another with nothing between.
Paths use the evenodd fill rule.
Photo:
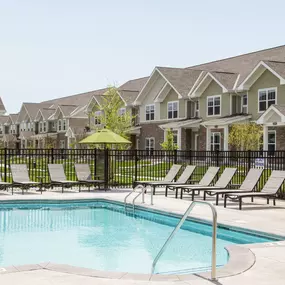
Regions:
<instances>
[{"instance_id":1,"label":"reclined beige lounge chair, fourth from left in row right of umbrella","mask_svg":"<svg viewBox=\"0 0 285 285\"><path fill-rule=\"evenodd\" d=\"M233 179L237 169L232 167L232 168L225 168L215 185L213 186L203 186L203 185L194 185L194 187L191 188L191 185L189 186L183 186L181 187L181 199L183 197L183 191L184 192L191 192L192 194L192 201L194 201L195 197L195 191L198 191L199 193L201 191L207 191L207 190L214 190L214 189L223 189L226 188L231 180ZM214 173L212 174L214 175ZM215 178L215 177L214 177Z\"/></svg>"}]
</instances>

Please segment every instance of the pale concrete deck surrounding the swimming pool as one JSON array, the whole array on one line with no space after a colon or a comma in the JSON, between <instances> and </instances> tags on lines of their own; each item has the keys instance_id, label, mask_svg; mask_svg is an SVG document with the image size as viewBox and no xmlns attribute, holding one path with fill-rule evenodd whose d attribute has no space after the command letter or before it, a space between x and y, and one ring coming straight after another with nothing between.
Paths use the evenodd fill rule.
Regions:
<instances>
[{"instance_id":1,"label":"pale concrete deck surrounding the swimming pool","mask_svg":"<svg viewBox=\"0 0 285 285\"><path fill-rule=\"evenodd\" d=\"M0 192L0 201L15 200L37 200L37 199L98 199L104 198L114 201L123 201L128 190L111 191L111 192L66 192L64 194L58 192L43 192L42 195L36 192L30 192L25 195L14 194L13 196L7 192ZM189 206L190 197L187 195L185 199L174 199L173 195L164 197L163 193L158 191L154 196L154 205L150 206L149 195L146 195L145 207L163 210L176 214L183 214ZM213 199L208 201L214 202ZM141 199L137 200L138 205ZM229 203L229 207L224 209L217 206L218 223L226 224L250 230L263 231L276 235L285 236L285 201L277 201L277 206L267 205L265 199L256 199L255 203L245 199L242 211L238 210L237 203ZM211 211L207 207L197 205L191 216L211 220ZM220 276L215 284L285 284L285 242L273 242L267 244L251 244L242 245L243 249L247 249L253 256L248 263L238 262L235 267L244 267L236 275L224 274ZM226 268L226 266L225 266ZM89 272L90 273L90 272ZM166 281L165 278L155 276L153 278L139 278L128 274L110 273L109 278L100 275L100 272L89 274L80 270L66 270L66 267L60 265L32 265L32 266L15 266L8 268L7 271L0 270L1 284L213 284L213 282L202 278L198 275L191 276L172 276ZM227 276L227 277L225 277ZM102 278L104 277L104 278ZM187 277L187 278L186 278Z\"/></svg>"}]
</instances>

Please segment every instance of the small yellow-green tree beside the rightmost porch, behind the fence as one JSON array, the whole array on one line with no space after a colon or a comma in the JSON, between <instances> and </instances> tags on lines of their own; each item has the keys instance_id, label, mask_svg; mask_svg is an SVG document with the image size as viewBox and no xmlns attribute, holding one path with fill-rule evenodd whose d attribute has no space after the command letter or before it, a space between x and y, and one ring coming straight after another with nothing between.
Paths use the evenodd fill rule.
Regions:
<instances>
[{"instance_id":1,"label":"small yellow-green tree beside the rightmost porch, behind the fence","mask_svg":"<svg viewBox=\"0 0 285 285\"><path fill-rule=\"evenodd\" d=\"M229 144L237 150L258 150L262 126L256 123L234 124L229 133Z\"/></svg>"}]
</instances>

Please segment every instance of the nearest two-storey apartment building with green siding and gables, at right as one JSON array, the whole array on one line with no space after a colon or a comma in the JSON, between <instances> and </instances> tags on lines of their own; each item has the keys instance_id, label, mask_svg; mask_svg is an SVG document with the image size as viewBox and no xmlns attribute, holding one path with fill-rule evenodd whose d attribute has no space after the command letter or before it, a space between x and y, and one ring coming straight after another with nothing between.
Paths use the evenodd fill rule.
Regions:
<instances>
[{"instance_id":1,"label":"nearest two-storey apartment building with green siding and gables, at right","mask_svg":"<svg viewBox=\"0 0 285 285\"><path fill-rule=\"evenodd\" d=\"M264 150L284 150L285 46L188 68L156 67L138 94L140 148L172 129L179 149L229 150L232 124L263 125Z\"/></svg>"}]
</instances>

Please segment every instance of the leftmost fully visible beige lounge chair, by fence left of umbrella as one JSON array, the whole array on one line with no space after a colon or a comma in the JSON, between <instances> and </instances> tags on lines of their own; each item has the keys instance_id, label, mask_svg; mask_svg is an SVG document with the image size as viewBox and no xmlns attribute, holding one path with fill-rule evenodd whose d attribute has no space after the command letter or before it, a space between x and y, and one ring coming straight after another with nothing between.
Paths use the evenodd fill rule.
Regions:
<instances>
[{"instance_id":1,"label":"leftmost fully visible beige lounge chair, by fence left of umbrella","mask_svg":"<svg viewBox=\"0 0 285 285\"><path fill-rule=\"evenodd\" d=\"M31 181L29 177L29 171L26 164L11 164L10 165L12 173L12 195L14 194L14 186L18 186L22 189L22 194L24 190L28 190L31 187L39 187L42 193L42 182Z\"/></svg>"}]
</instances>

